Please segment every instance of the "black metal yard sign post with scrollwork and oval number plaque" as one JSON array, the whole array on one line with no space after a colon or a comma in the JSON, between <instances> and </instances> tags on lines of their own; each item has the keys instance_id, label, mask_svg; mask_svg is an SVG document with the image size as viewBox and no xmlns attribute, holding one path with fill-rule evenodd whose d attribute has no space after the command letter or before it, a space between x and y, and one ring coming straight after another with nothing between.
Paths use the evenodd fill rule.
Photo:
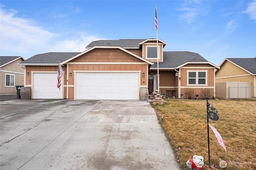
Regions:
<instances>
[{"instance_id":1,"label":"black metal yard sign post with scrollwork and oval number plaque","mask_svg":"<svg viewBox=\"0 0 256 170\"><path fill-rule=\"evenodd\" d=\"M208 159L209 159L209 168L210 168L210 138L209 138L209 119L216 121L219 119L218 111L215 110L214 106L206 100L206 110L207 110L207 131L208 131Z\"/></svg>"}]
</instances>

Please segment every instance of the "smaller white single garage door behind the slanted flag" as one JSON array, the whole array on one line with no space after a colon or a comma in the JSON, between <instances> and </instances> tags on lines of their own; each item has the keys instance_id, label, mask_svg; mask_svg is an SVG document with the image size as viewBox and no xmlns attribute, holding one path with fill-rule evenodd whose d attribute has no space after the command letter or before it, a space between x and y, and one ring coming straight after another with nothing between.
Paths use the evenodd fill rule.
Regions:
<instances>
[{"instance_id":1,"label":"smaller white single garage door behind the slanted flag","mask_svg":"<svg viewBox=\"0 0 256 170\"><path fill-rule=\"evenodd\" d=\"M63 83L60 89L57 88L57 75L57 73L33 73L34 99L62 98Z\"/></svg>"}]
</instances>

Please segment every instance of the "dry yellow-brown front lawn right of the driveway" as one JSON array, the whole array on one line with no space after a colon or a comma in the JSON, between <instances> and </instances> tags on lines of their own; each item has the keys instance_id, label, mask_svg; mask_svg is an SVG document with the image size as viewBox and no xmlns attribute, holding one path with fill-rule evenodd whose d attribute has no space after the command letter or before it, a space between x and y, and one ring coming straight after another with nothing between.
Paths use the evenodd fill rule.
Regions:
<instances>
[{"instance_id":1,"label":"dry yellow-brown front lawn right of the driveway","mask_svg":"<svg viewBox=\"0 0 256 170\"><path fill-rule=\"evenodd\" d=\"M209 129L212 169L221 169L220 160L228 163L226 170L256 170L256 100L208 100L218 110L219 120L209 123L222 136L227 152ZM193 155L204 156L208 168L208 136L206 100L171 99L153 106L182 168ZM239 165L240 163L240 165ZM241 165L241 163L243 165ZM247 166L245 166L247 164Z\"/></svg>"}]
</instances>

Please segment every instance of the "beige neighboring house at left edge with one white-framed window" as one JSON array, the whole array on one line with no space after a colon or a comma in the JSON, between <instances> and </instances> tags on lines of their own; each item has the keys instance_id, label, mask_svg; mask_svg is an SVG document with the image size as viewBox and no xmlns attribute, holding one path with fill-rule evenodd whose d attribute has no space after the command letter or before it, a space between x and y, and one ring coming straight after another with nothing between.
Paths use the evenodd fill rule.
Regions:
<instances>
[{"instance_id":1,"label":"beige neighboring house at left edge with one white-framed window","mask_svg":"<svg viewBox=\"0 0 256 170\"><path fill-rule=\"evenodd\" d=\"M16 94L16 86L24 85L24 68L18 65L22 56L0 56L0 94Z\"/></svg>"}]
</instances>

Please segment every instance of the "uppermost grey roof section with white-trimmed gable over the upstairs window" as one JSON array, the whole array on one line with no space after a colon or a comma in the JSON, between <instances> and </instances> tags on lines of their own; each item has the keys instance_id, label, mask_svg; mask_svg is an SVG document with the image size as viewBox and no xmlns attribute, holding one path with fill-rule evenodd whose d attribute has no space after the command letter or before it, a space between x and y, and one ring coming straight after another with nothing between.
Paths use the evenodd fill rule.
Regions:
<instances>
[{"instance_id":1,"label":"uppermost grey roof section with white-trimmed gable over the upstairs window","mask_svg":"<svg viewBox=\"0 0 256 170\"><path fill-rule=\"evenodd\" d=\"M119 40L97 40L92 41L86 48L92 48L94 46L120 46L124 49L139 49L140 45L147 41L156 41L156 39L119 39ZM164 41L159 40L159 42L166 44Z\"/></svg>"}]
</instances>

